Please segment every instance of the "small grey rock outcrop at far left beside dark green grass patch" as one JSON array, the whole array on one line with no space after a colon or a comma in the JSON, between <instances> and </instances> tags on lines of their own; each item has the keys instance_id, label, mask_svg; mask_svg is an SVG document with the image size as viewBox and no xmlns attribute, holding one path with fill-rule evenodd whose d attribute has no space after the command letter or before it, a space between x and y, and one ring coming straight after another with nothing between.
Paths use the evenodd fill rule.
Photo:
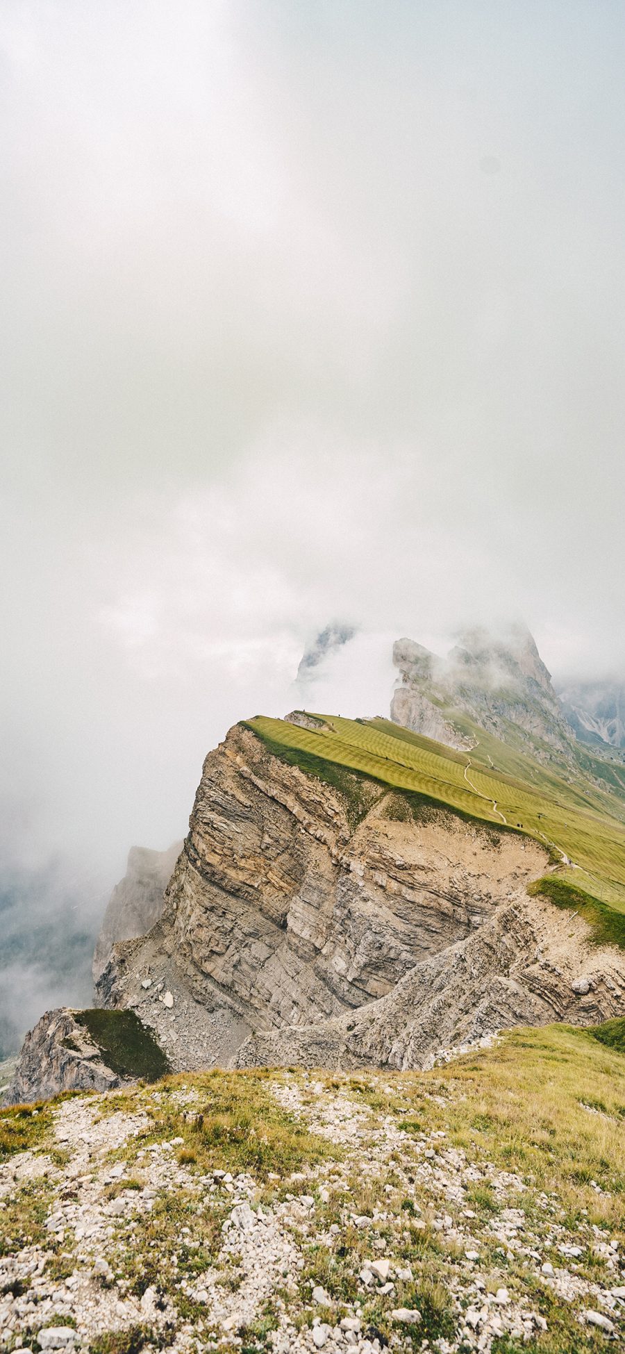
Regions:
<instances>
[{"instance_id":1,"label":"small grey rock outcrop at far left beside dark green grass patch","mask_svg":"<svg viewBox=\"0 0 625 1354\"><path fill-rule=\"evenodd\" d=\"M77 1011L46 1011L24 1039L4 1105L22 1105L60 1091L108 1091L123 1078L106 1066Z\"/></svg>"}]
</instances>

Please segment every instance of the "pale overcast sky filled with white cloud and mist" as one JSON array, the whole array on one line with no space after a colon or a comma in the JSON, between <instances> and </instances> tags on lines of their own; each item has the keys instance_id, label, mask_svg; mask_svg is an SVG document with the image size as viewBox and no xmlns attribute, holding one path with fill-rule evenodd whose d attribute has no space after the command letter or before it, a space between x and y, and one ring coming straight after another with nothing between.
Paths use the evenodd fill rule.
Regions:
<instances>
[{"instance_id":1,"label":"pale overcast sky filled with white cloud and mist","mask_svg":"<svg viewBox=\"0 0 625 1354\"><path fill-rule=\"evenodd\" d=\"M3 0L5 846L111 875L206 751L524 616L622 673L618 0Z\"/></svg>"}]
</instances>

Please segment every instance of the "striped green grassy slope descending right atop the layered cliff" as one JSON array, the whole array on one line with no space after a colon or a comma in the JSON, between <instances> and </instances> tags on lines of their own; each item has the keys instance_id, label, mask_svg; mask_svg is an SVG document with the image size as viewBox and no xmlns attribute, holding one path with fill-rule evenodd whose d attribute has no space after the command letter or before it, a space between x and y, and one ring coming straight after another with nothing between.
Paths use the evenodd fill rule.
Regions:
<instances>
[{"instance_id":1,"label":"striped green grassy slope descending right atop the layered cliff","mask_svg":"<svg viewBox=\"0 0 625 1354\"><path fill-rule=\"evenodd\" d=\"M565 780L484 733L467 716L475 746L455 751L386 719L318 715L319 728L257 716L249 726L280 757L335 780L341 769L425 796L547 844L563 877L625 913L625 792ZM356 783L354 783L356 784ZM353 789L356 793L356 789Z\"/></svg>"}]
</instances>

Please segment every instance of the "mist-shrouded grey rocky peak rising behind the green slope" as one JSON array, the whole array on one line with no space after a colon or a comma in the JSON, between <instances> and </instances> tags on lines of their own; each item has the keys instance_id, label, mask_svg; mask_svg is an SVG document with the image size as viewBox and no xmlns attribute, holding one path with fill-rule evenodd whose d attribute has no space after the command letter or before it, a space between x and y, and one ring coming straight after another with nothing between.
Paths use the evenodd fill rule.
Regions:
<instances>
[{"instance_id":1,"label":"mist-shrouded grey rocky peak rising behind the green slope","mask_svg":"<svg viewBox=\"0 0 625 1354\"><path fill-rule=\"evenodd\" d=\"M399 639L392 659L400 674L391 704L395 723L450 747L467 747L453 723L453 709L465 711L503 741L514 724L533 757L544 758L548 749L565 760L574 756L572 730L524 627L513 626L503 636L467 631L446 658Z\"/></svg>"}]
</instances>

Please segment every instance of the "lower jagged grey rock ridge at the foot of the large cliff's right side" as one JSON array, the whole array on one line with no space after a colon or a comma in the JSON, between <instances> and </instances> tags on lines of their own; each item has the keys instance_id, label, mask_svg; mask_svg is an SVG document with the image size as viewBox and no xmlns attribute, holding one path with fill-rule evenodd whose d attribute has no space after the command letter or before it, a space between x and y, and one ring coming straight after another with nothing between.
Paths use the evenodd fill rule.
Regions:
<instances>
[{"instance_id":1,"label":"lower jagged grey rock ridge at the foot of the large cliff's right side","mask_svg":"<svg viewBox=\"0 0 625 1354\"><path fill-rule=\"evenodd\" d=\"M475 934L417 964L390 992L314 1028L256 1034L237 1067L429 1067L514 1025L591 1025L625 1010L625 955L590 944L579 918L515 898Z\"/></svg>"}]
</instances>

